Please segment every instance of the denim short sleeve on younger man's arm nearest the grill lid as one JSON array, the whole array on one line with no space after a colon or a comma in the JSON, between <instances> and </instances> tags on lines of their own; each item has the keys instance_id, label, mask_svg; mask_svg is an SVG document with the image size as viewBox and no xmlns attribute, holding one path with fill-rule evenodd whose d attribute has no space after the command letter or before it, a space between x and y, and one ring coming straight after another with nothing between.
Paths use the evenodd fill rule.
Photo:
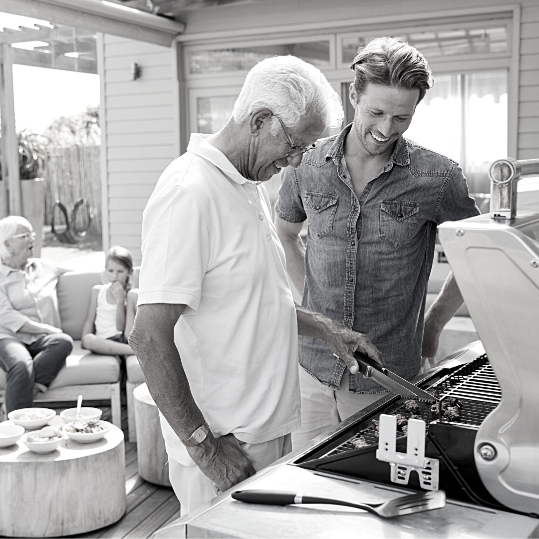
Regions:
<instances>
[{"instance_id":1,"label":"denim short sleeve on younger man's arm nearest the grill lid","mask_svg":"<svg viewBox=\"0 0 539 539\"><path fill-rule=\"evenodd\" d=\"M462 174L462 169L459 166L455 167L440 193L432 220L440 224L446 221L467 219L480 213L475 200L469 196L468 183Z\"/></svg>"}]
</instances>

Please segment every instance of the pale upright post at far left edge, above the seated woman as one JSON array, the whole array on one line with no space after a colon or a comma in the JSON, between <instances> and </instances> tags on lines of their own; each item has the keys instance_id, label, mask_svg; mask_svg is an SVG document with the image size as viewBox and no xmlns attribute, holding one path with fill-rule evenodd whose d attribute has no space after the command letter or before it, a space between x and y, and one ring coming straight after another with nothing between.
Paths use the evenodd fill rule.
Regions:
<instances>
[{"instance_id":1,"label":"pale upright post at far left edge, above the seated woman","mask_svg":"<svg viewBox=\"0 0 539 539\"><path fill-rule=\"evenodd\" d=\"M21 215L19 150L15 131L15 99L13 97L13 49L2 45L2 80L0 84L0 116L2 118L2 179L8 190L9 215Z\"/></svg>"}]
</instances>

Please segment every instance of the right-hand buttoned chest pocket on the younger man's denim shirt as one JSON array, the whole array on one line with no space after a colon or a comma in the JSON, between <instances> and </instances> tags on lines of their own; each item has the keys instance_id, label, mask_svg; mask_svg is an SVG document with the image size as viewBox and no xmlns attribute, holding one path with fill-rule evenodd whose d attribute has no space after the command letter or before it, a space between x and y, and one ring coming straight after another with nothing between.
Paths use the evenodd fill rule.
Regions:
<instances>
[{"instance_id":1,"label":"right-hand buttoned chest pocket on the younger man's denim shirt","mask_svg":"<svg viewBox=\"0 0 539 539\"><path fill-rule=\"evenodd\" d=\"M380 206L380 237L392 247L400 247L416 233L419 204L384 201Z\"/></svg>"}]
</instances>

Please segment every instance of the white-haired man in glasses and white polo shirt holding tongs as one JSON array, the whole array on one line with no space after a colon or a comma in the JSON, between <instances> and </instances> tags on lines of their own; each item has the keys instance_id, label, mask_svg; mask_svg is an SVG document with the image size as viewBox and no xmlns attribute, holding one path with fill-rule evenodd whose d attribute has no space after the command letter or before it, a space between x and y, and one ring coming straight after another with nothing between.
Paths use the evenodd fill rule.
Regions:
<instances>
[{"instance_id":1,"label":"white-haired man in glasses and white polo shirt holding tongs","mask_svg":"<svg viewBox=\"0 0 539 539\"><path fill-rule=\"evenodd\" d=\"M382 361L364 335L294 306L260 185L341 121L319 70L292 56L261 61L226 126L191 135L144 210L129 344L162 414L182 514L291 450L298 332L325 340L353 372L357 348Z\"/></svg>"}]
</instances>

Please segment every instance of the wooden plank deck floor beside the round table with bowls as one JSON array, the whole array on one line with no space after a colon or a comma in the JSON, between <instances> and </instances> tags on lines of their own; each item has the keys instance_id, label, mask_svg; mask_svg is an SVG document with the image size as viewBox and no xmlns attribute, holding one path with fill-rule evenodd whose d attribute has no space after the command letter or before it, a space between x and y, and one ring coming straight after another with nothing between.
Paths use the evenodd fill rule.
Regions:
<instances>
[{"instance_id":1,"label":"wooden plank deck floor beside the round table with bowls","mask_svg":"<svg viewBox=\"0 0 539 539\"><path fill-rule=\"evenodd\" d=\"M101 409L103 419L110 420L110 409ZM179 518L179 501L172 488L153 485L139 476L136 444L127 441L125 406L122 406L122 430L126 447L126 514L112 526L73 537L151 537L156 530Z\"/></svg>"}]
</instances>

